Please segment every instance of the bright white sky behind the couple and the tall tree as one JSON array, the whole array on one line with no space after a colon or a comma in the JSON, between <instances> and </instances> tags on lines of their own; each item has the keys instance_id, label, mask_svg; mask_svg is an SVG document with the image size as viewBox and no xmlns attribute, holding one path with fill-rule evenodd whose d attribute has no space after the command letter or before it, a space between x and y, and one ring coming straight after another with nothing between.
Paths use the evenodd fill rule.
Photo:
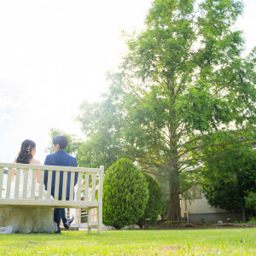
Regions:
<instances>
[{"instance_id":1,"label":"bright white sky behind the couple and the tall tree","mask_svg":"<svg viewBox=\"0 0 256 256\"><path fill-rule=\"evenodd\" d=\"M256 44L256 0L238 27ZM12 162L26 138L44 164L49 129L83 137L79 105L108 90L119 63L121 29L140 31L151 0L0 1L0 161Z\"/></svg>"}]
</instances>

